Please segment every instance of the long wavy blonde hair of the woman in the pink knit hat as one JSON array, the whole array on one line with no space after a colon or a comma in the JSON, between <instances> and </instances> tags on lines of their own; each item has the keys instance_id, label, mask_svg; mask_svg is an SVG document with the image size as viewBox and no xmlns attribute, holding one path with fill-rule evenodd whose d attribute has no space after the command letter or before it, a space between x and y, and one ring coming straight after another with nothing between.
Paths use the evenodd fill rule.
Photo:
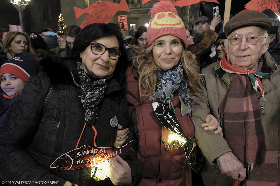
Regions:
<instances>
[{"instance_id":1,"label":"long wavy blonde hair of the woman in the pink knit hat","mask_svg":"<svg viewBox=\"0 0 280 186\"><path fill-rule=\"evenodd\" d=\"M131 46L134 50L132 65L139 73L140 99L150 96L151 93L155 94L157 84L157 76L155 73L158 69L158 66L153 58L154 46L154 42L146 49L143 46ZM188 82L191 92L195 93L200 73L200 68L195 55L189 51L185 51L185 49L182 47L180 61L184 70L183 79Z\"/></svg>"}]
</instances>

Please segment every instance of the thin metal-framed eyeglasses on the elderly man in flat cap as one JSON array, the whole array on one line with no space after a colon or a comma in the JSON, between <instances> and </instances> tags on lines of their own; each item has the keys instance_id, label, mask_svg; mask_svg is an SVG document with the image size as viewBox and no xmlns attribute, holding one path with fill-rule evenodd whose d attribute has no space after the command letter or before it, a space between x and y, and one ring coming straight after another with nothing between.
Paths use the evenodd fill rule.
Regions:
<instances>
[{"instance_id":1,"label":"thin metal-framed eyeglasses on the elderly man in flat cap","mask_svg":"<svg viewBox=\"0 0 280 186\"><path fill-rule=\"evenodd\" d=\"M245 36L242 36L245 35ZM261 42L262 37L260 34L237 34L237 35L231 35L230 37L228 37L228 42L231 45L238 45L241 40L243 39L243 37L246 38L246 41L250 44L250 45L257 45Z\"/></svg>"}]
</instances>

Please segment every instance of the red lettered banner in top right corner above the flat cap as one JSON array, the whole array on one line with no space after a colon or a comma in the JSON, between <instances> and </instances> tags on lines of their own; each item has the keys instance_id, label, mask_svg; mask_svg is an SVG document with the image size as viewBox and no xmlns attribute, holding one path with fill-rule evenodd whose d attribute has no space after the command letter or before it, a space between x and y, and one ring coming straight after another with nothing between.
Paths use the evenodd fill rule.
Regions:
<instances>
[{"instance_id":1,"label":"red lettered banner in top right corner above the flat cap","mask_svg":"<svg viewBox=\"0 0 280 186\"><path fill-rule=\"evenodd\" d=\"M279 1L271 0L251 0L249 3L245 4L244 8L249 10L256 10L262 12L264 9L272 9L275 13L278 13L278 8L280 7Z\"/></svg>"}]
</instances>

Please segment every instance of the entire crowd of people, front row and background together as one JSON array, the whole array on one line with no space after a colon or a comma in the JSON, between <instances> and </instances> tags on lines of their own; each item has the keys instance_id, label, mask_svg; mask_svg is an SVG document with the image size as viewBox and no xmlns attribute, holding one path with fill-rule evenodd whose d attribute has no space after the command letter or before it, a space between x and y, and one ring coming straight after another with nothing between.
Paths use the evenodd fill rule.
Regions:
<instances>
[{"instance_id":1,"label":"entire crowd of people, front row and background together","mask_svg":"<svg viewBox=\"0 0 280 186\"><path fill-rule=\"evenodd\" d=\"M150 12L149 26L129 39L122 23L71 25L63 34L0 30L3 183L280 184L277 15L243 11L223 32L216 30L219 14L186 30L170 1ZM178 121L174 131L159 120L154 102L174 112L176 118L167 115ZM51 167L79 147L118 148L132 140L134 153L111 157L103 180L92 167ZM197 171L202 181L192 176Z\"/></svg>"}]
</instances>

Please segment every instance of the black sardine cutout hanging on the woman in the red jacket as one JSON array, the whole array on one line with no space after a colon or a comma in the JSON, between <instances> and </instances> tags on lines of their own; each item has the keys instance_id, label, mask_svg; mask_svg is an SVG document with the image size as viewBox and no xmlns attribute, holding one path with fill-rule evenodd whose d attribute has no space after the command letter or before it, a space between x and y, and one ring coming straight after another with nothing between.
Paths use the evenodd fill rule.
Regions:
<instances>
[{"instance_id":1,"label":"black sardine cutout hanging on the woman in the red jacket","mask_svg":"<svg viewBox=\"0 0 280 186\"><path fill-rule=\"evenodd\" d=\"M152 106L162 125L164 125L166 129L171 130L173 133L185 138L187 141L187 149L190 149L195 139L191 139L185 134L178 119L176 118L176 114L161 103L153 102Z\"/></svg>"}]
</instances>

